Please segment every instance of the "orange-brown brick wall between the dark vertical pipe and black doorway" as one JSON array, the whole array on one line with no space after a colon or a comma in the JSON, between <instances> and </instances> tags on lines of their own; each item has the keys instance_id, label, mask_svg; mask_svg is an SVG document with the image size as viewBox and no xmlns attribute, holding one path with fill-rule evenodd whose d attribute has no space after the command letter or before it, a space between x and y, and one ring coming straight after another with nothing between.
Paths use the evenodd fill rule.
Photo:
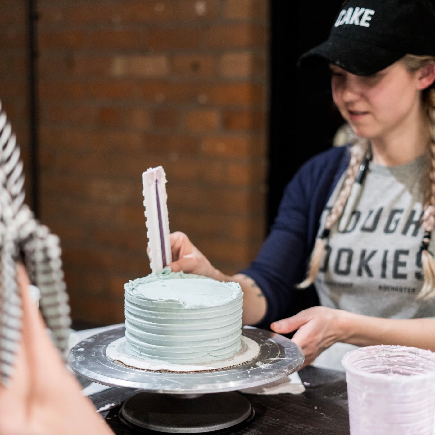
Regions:
<instances>
[{"instance_id":1,"label":"orange-brown brick wall between the dark vertical pipe and black doorway","mask_svg":"<svg viewBox=\"0 0 435 435\"><path fill-rule=\"evenodd\" d=\"M41 220L73 317L122 321L149 273L141 173L224 272L264 238L267 0L39 0Z\"/></svg>"}]
</instances>

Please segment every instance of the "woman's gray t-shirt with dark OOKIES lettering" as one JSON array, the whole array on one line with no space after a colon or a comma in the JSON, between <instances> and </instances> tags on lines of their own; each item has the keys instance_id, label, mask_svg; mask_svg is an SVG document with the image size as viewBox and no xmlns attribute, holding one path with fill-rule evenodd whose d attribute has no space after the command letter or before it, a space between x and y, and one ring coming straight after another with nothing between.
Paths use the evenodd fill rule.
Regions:
<instances>
[{"instance_id":1,"label":"woman's gray t-shirt with dark OOKIES lettering","mask_svg":"<svg viewBox=\"0 0 435 435\"><path fill-rule=\"evenodd\" d=\"M321 305L383 318L435 316L435 298L416 299L423 283L420 218L427 167L426 155L396 167L369 164L346 230L339 232L338 223L331 229L315 280ZM321 230L343 180L323 211Z\"/></svg>"}]
</instances>

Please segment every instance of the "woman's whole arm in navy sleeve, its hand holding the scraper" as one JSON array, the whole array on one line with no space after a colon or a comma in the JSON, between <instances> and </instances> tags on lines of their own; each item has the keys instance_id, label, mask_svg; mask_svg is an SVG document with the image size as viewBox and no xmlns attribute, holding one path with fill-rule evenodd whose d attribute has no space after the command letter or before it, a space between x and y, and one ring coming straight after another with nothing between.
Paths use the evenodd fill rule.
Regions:
<instances>
[{"instance_id":1,"label":"woman's whole arm in navy sleeve, its hand holding the scraper","mask_svg":"<svg viewBox=\"0 0 435 435\"><path fill-rule=\"evenodd\" d=\"M317 305L312 286L297 290L295 284L304 279L321 212L347 159L346 149L336 148L301 167L285 188L278 216L257 258L238 275L228 277L215 269L183 233L171 235L172 270L238 281L244 291L244 322L260 328Z\"/></svg>"}]
</instances>

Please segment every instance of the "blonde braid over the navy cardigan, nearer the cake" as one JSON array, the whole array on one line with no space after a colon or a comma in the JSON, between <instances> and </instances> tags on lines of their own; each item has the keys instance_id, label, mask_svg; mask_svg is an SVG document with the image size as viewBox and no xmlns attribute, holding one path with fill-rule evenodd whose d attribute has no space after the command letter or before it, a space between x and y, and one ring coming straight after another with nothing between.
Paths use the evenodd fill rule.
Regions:
<instances>
[{"instance_id":1,"label":"blonde braid over the navy cardigan, nearer the cake","mask_svg":"<svg viewBox=\"0 0 435 435\"><path fill-rule=\"evenodd\" d=\"M346 202L351 194L352 186L355 182L355 178L358 175L359 167L368 150L368 141L365 139L358 138L355 144L351 147L351 158L349 161L348 169L346 172L345 181L341 186L340 193L338 194L337 200L332 207L331 212L326 220L325 229L320 237L316 240L313 252L311 253L310 263L308 266L307 278L298 284L298 288L307 288L313 283L316 276L319 273L320 263L323 257L323 252L325 251L325 239L329 237L331 228L340 218L343 210L345 208Z\"/></svg>"}]
</instances>

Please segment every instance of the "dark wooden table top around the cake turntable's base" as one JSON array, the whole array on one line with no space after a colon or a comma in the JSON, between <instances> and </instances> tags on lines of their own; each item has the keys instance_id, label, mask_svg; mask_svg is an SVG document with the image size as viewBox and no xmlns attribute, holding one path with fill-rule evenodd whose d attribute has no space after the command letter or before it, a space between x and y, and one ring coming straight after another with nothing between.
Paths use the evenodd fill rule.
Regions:
<instances>
[{"instance_id":1,"label":"dark wooden table top around the cake turntable's base","mask_svg":"<svg viewBox=\"0 0 435 435\"><path fill-rule=\"evenodd\" d=\"M255 410L254 419L231 435L349 435L348 400L344 373L306 367L299 372L306 391L300 395L245 395ZM308 384L307 384L308 383ZM90 399L96 408L134 395L126 388L110 388ZM118 418L119 406L101 415L117 435L160 434L127 428Z\"/></svg>"}]
</instances>

